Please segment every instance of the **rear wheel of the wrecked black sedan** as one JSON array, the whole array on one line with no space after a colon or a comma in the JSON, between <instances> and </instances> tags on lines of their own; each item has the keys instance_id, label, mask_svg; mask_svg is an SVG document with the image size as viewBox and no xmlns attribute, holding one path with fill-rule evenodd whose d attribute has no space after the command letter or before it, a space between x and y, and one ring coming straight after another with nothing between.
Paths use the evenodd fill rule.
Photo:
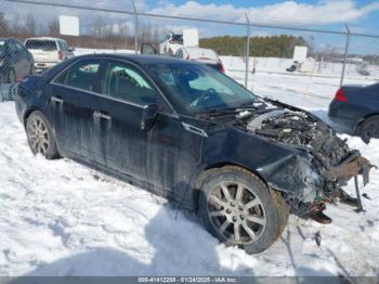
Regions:
<instances>
[{"instance_id":1,"label":"rear wheel of the wrecked black sedan","mask_svg":"<svg viewBox=\"0 0 379 284\"><path fill-rule=\"evenodd\" d=\"M41 112L36 111L27 118L26 135L34 155L39 153L47 159L60 157L51 125Z\"/></svg>"}]
</instances>

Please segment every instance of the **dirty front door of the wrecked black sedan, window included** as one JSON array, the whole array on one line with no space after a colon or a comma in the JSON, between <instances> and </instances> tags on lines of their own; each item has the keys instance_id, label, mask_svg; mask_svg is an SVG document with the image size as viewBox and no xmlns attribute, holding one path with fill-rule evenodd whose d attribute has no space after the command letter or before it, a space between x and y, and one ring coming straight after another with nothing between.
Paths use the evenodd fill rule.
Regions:
<instances>
[{"instance_id":1,"label":"dirty front door of the wrecked black sedan, window included","mask_svg":"<svg viewBox=\"0 0 379 284\"><path fill-rule=\"evenodd\" d=\"M103 74L103 94L94 99L93 108L93 125L101 139L96 162L147 181L161 195L185 191L199 163L201 133L195 128L190 131L191 126L181 121L152 79L134 64L110 61L104 64ZM152 128L142 129L148 104L158 105L158 115Z\"/></svg>"}]
</instances>

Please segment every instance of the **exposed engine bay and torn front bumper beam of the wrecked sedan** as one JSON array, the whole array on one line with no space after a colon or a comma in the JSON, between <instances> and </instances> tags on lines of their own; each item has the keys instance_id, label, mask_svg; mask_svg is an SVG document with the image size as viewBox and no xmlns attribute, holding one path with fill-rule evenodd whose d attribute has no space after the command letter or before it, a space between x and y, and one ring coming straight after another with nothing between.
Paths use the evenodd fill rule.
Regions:
<instances>
[{"instance_id":1,"label":"exposed engine bay and torn front bumper beam of the wrecked sedan","mask_svg":"<svg viewBox=\"0 0 379 284\"><path fill-rule=\"evenodd\" d=\"M356 150L351 150L347 140L314 115L298 108L273 108L252 117L246 129L258 135L286 145L302 149L311 154L315 171L323 178L317 186L334 192L356 175L368 182L373 165Z\"/></svg>"}]
</instances>

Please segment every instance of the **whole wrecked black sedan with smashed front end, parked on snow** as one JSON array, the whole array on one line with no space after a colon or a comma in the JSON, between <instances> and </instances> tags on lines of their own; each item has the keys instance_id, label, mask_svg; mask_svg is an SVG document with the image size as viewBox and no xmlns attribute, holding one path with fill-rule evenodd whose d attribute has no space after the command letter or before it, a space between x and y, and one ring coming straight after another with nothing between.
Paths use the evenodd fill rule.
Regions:
<instances>
[{"instance_id":1,"label":"whole wrecked black sedan with smashed front end, parked on snow","mask_svg":"<svg viewBox=\"0 0 379 284\"><path fill-rule=\"evenodd\" d=\"M32 153L166 196L250 254L279 237L290 209L323 208L370 168L312 114L195 62L79 56L24 79L15 101Z\"/></svg>"}]
</instances>

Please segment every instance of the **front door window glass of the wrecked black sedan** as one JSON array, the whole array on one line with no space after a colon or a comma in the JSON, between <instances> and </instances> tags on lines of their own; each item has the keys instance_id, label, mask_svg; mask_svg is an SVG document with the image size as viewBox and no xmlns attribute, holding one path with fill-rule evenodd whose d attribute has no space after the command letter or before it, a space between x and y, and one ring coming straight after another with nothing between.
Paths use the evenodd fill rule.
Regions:
<instances>
[{"instance_id":1,"label":"front door window glass of the wrecked black sedan","mask_svg":"<svg viewBox=\"0 0 379 284\"><path fill-rule=\"evenodd\" d=\"M108 63L103 93L139 105L156 103L154 88L138 68L126 63Z\"/></svg>"}]
</instances>

